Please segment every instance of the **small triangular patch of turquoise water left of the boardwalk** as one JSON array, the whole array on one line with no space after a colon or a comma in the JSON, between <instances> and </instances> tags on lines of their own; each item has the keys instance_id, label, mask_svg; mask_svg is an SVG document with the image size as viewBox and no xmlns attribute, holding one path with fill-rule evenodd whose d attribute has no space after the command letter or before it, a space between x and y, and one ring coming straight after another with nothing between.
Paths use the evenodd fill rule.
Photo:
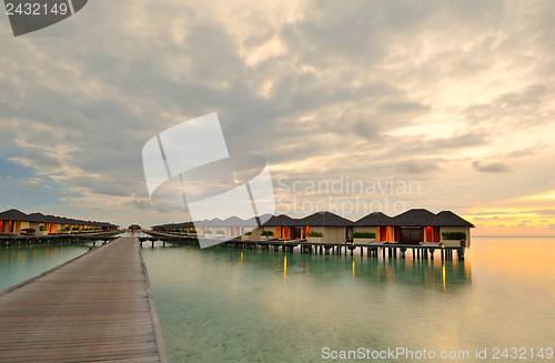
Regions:
<instances>
[{"instance_id":1,"label":"small triangular patch of turquoise water left of the boardwalk","mask_svg":"<svg viewBox=\"0 0 555 363\"><path fill-rule=\"evenodd\" d=\"M38 275L87 252L88 245L71 243L0 246L0 291Z\"/></svg>"}]
</instances>

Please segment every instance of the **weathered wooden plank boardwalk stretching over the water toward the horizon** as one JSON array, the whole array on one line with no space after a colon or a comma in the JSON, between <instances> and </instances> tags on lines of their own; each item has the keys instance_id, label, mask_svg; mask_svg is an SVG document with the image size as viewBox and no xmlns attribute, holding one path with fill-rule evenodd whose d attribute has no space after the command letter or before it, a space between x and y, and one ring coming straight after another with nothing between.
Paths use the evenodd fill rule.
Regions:
<instances>
[{"instance_id":1,"label":"weathered wooden plank boardwalk stretching over the water toward the horizon","mask_svg":"<svg viewBox=\"0 0 555 363\"><path fill-rule=\"evenodd\" d=\"M0 362L168 362L138 239L0 292Z\"/></svg>"}]
</instances>

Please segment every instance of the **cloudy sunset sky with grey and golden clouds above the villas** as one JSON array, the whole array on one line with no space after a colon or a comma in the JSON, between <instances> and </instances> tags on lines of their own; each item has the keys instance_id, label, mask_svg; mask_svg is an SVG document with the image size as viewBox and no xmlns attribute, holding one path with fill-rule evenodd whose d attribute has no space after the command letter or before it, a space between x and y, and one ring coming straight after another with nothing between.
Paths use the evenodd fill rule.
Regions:
<instances>
[{"instance_id":1,"label":"cloudy sunset sky with grey and golden clouds above the villas","mask_svg":"<svg viewBox=\"0 0 555 363\"><path fill-rule=\"evenodd\" d=\"M553 1L91 0L14 38L0 14L0 211L190 220L150 201L142 148L216 112L276 213L555 235L554 23Z\"/></svg>"}]
</instances>

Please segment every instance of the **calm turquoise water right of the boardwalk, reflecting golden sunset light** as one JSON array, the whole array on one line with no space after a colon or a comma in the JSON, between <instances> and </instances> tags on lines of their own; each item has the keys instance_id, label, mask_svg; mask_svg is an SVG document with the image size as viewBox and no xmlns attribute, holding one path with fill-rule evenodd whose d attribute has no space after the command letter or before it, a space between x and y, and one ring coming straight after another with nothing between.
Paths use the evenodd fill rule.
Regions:
<instances>
[{"instance_id":1,"label":"calm turquoise water right of the boardwalk, reflecting golden sunset light","mask_svg":"<svg viewBox=\"0 0 555 363\"><path fill-rule=\"evenodd\" d=\"M517 347L547 362L554 242L475 239L464 262L445 264L158 244L143 255L171 362L321 362L323 349L360 347L468 352L453 362L476 361L476 349L490 361L495 347L516 361Z\"/></svg>"}]
</instances>

